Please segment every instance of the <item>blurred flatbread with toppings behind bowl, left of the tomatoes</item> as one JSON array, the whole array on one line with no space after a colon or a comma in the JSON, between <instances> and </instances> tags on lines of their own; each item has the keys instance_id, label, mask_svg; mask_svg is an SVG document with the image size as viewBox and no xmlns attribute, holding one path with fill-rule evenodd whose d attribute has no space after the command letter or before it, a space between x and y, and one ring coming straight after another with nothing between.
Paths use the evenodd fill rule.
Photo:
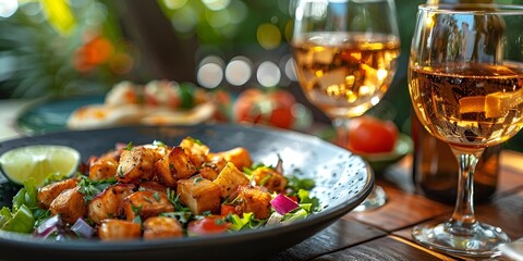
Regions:
<instances>
[{"instance_id":1,"label":"blurred flatbread with toppings behind bowl, left of the tomatoes","mask_svg":"<svg viewBox=\"0 0 523 261\"><path fill-rule=\"evenodd\" d=\"M73 111L68 119L68 127L193 125L210 120L215 110L209 95L191 83L155 79L137 85L125 80L107 92L102 104L88 104Z\"/></svg>"}]
</instances>

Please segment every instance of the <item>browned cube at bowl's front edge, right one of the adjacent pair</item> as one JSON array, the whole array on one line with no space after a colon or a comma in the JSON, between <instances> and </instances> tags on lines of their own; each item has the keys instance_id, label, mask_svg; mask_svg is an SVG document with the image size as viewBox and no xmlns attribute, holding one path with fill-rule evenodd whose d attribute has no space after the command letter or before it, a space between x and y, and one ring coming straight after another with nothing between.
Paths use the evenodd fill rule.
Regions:
<instances>
[{"instance_id":1,"label":"browned cube at bowl's front edge, right one of the adjacent pair","mask_svg":"<svg viewBox=\"0 0 523 261\"><path fill-rule=\"evenodd\" d=\"M183 228L180 222L168 216L150 216L144 221L144 239L181 237Z\"/></svg>"}]
</instances>

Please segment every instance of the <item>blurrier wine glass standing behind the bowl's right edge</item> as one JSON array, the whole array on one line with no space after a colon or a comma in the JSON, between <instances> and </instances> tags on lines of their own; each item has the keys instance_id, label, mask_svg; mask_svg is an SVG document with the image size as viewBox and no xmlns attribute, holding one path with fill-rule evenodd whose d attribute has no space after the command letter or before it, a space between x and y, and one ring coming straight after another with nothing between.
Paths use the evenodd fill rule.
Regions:
<instances>
[{"instance_id":1,"label":"blurrier wine glass standing behind the bowl's right edge","mask_svg":"<svg viewBox=\"0 0 523 261\"><path fill-rule=\"evenodd\" d=\"M297 0L292 49L307 100L331 119L335 140L348 146L349 122L389 89L400 55L393 0ZM386 202L381 187L354 211Z\"/></svg>"}]
</instances>

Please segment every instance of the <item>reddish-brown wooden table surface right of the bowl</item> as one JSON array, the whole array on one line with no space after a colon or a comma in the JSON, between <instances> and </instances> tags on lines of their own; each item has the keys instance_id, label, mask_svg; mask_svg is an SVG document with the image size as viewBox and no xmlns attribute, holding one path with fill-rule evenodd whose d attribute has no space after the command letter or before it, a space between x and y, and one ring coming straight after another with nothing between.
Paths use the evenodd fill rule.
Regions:
<instances>
[{"instance_id":1,"label":"reddish-brown wooden table surface right of the bowl","mask_svg":"<svg viewBox=\"0 0 523 261\"><path fill-rule=\"evenodd\" d=\"M515 240L523 237L523 153L503 151L497 192L491 202L476 204L479 221L503 228ZM453 206L416 194L411 157L397 170L377 178L388 195L386 206L350 212L315 236L269 260L472 260L435 252L413 241L414 225L447 220ZM485 259L478 259L485 260ZM510 260L498 257L495 260Z\"/></svg>"}]
</instances>

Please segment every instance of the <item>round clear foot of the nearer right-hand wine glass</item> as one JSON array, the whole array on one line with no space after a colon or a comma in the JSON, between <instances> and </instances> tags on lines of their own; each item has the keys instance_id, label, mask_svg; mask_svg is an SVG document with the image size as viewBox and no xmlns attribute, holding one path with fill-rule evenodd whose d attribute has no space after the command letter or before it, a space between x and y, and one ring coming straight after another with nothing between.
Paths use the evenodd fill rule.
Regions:
<instances>
[{"instance_id":1,"label":"round clear foot of the nearer right-hand wine glass","mask_svg":"<svg viewBox=\"0 0 523 261\"><path fill-rule=\"evenodd\" d=\"M510 243L501 228L479 222L470 228L457 227L451 222L416 226L412 236L436 251L465 257L491 257L499 252L497 247L500 244Z\"/></svg>"}]
</instances>

